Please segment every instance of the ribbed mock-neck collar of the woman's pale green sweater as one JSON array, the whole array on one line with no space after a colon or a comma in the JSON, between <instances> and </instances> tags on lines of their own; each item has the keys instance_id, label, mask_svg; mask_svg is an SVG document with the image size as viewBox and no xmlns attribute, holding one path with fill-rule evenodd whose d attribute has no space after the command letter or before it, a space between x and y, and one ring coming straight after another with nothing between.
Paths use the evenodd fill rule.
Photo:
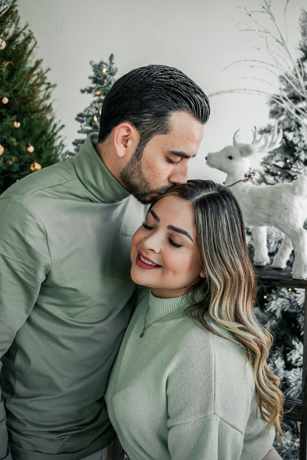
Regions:
<instances>
[{"instance_id":1,"label":"ribbed mock-neck collar of the woman's pale green sweater","mask_svg":"<svg viewBox=\"0 0 307 460\"><path fill-rule=\"evenodd\" d=\"M194 291L174 297L172 299L161 299L155 297L151 292L149 294L149 309L147 313L147 322L157 321L165 316L161 321L175 319L180 316L185 316L185 309L191 305ZM196 293L198 298L199 293ZM167 315L167 316L166 316Z\"/></svg>"}]
</instances>

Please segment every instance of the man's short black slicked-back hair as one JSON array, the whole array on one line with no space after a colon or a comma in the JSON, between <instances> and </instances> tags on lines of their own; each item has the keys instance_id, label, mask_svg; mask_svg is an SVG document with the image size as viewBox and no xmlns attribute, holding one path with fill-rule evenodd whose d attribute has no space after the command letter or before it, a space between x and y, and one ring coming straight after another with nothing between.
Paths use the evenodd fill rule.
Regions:
<instances>
[{"instance_id":1,"label":"man's short black slicked-back hair","mask_svg":"<svg viewBox=\"0 0 307 460\"><path fill-rule=\"evenodd\" d=\"M113 128L127 121L138 130L144 147L156 134L169 132L168 117L174 111L185 111L205 124L209 100L194 81L174 67L148 65L131 70L104 98L98 142L104 142Z\"/></svg>"}]
</instances>

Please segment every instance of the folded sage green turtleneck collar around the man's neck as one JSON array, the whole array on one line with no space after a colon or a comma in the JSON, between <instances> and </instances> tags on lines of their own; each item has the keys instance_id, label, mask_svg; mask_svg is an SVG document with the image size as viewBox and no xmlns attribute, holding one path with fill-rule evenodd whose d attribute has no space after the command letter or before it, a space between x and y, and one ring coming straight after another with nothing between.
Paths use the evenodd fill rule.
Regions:
<instances>
[{"instance_id":1,"label":"folded sage green turtleneck collar around the man's neck","mask_svg":"<svg viewBox=\"0 0 307 460\"><path fill-rule=\"evenodd\" d=\"M130 193L112 176L96 152L98 132L91 132L78 153L70 159L78 180L91 194L93 201L114 203L123 200Z\"/></svg>"}]
</instances>

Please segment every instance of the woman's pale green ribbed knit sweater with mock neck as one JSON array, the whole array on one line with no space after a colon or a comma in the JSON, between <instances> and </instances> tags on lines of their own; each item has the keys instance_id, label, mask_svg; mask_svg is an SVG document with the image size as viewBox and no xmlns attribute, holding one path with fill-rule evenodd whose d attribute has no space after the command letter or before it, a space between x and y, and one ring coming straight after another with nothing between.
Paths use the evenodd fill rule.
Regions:
<instances>
[{"instance_id":1,"label":"woman's pale green ribbed knit sweater with mock neck","mask_svg":"<svg viewBox=\"0 0 307 460\"><path fill-rule=\"evenodd\" d=\"M190 302L139 292L105 394L110 420L131 460L261 460L275 429L260 416L250 364L185 315ZM168 316L140 338L148 306L146 326Z\"/></svg>"}]
</instances>

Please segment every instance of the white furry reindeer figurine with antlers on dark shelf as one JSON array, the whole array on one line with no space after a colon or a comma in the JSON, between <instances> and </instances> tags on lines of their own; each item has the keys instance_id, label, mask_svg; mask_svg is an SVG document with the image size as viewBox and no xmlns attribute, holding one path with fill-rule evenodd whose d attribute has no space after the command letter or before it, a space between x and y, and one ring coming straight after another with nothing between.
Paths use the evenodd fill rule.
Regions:
<instances>
[{"instance_id":1,"label":"white furry reindeer figurine with antlers on dark shelf","mask_svg":"<svg viewBox=\"0 0 307 460\"><path fill-rule=\"evenodd\" d=\"M244 224L251 231L254 242L254 265L267 265L270 259L266 247L266 226L274 226L285 236L272 263L274 268L285 268L292 249L295 261L292 277L307 278L307 231L303 224L307 218L307 177L301 176L290 183L254 185L243 182L250 168L249 158L255 153L266 153L278 148L282 131L277 124L272 135L263 134L257 139L255 128L251 144L237 142L237 130L233 146L220 152L209 153L207 164L227 173L226 186L237 198L242 210ZM261 142L264 140L262 145ZM238 182L239 181L239 182Z\"/></svg>"}]
</instances>

